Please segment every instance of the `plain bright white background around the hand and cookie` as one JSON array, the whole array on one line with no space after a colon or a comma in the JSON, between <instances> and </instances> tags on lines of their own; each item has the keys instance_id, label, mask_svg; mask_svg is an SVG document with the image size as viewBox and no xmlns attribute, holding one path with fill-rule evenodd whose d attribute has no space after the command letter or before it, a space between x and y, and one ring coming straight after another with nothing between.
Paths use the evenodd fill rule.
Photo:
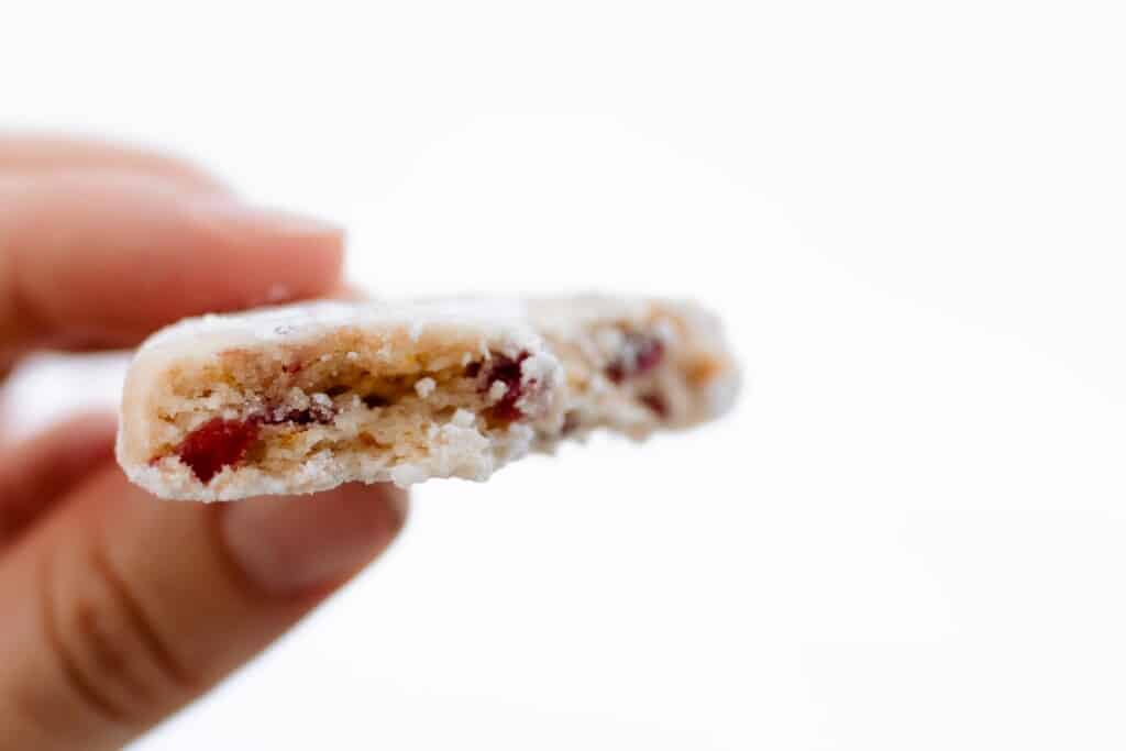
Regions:
<instances>
[{"instance_id":1,"label":"plain bright white background around the hand and cookie","mask_svg":"<svg viewBox=\"0 0 1126 751\"><path fill-rule=\"evenodd\" d=\"M3 6L2 123L342 222L379 292L691 295L747 369L717 426L423 485L136 748L1126 744L1117 6Z\"/></svg>"}]
</instances>

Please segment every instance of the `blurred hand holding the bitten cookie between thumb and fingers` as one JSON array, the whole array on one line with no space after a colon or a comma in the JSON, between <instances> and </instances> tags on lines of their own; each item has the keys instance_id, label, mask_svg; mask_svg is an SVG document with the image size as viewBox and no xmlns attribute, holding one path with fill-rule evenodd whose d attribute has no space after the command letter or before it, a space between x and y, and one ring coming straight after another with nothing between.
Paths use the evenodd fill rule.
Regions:
<instances>
[{"instance_id":1,"label":"blurred hand holding the bitten cookie between thumb and fingers","mask_svg":"<svg viewBox=\"0 0 1126 751\"><path fill-rule=\"evenodd\" d=\"M106 144L0 137L0 364L119 348L185 315L333 293L339 230ZM117 748L378 555L391 486L158 501L86 415L0 447L0 748Z\"/></svg>"}]
</instances>

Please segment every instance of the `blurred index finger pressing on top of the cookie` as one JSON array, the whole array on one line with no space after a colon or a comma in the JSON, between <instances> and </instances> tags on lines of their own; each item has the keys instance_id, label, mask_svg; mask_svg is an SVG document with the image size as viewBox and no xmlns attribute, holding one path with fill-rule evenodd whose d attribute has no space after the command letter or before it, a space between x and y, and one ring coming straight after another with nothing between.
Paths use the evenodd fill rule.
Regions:
<instances>
[{"instance_id":1,"label":"blurred index finger pressing on top of the cookie","mask_svg":"<svg viewBox=\"0 0 1126 751\"><path fill-rule=\"evenodd\" d=\"M126 347L207 311L316 296L342 233L140 176L0 180L0 349Z\"/></svg>"}]
</instances>

